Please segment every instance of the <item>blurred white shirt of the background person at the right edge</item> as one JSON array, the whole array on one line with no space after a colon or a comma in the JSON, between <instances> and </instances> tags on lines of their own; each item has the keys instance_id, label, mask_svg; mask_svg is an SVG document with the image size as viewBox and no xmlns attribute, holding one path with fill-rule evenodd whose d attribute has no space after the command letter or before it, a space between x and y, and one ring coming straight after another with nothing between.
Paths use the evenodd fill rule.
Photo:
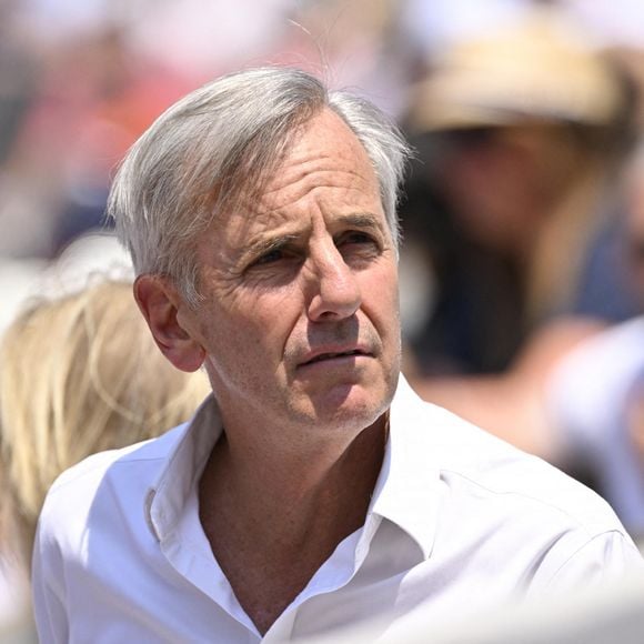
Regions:
<instances>
[{"instance_id":1,"label":"blurred white shirt of the background person at the right edge","mask_svg":"<svg viewBox=\"0 0 644 644\"><path fill-rule=\"evenodd\" d=\"M631 534L644 536L644 466L628 431L644 388L644 316L577 344L557 364L546 402L564 454L585 459Z\"/></svg>"}]
</instances>

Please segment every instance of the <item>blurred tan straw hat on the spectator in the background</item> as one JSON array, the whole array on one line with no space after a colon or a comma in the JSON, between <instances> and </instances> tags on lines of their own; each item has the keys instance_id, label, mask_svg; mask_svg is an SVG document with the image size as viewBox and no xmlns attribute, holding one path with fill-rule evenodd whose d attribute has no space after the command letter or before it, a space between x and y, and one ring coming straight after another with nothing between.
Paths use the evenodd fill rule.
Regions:
<instances>
[{"instance_id":1,"label":"blurred tan straw hat on the spectator in the background","mask_svg":"<svg viewBox=\"0 0 644 644\"><path fill-rule=\"evenodd\" d=\"M412 131L522 121L610 124L620 112L620 79L551 13L513 30L454 46L416 87Z\"/></svg>"}]
</instances>

